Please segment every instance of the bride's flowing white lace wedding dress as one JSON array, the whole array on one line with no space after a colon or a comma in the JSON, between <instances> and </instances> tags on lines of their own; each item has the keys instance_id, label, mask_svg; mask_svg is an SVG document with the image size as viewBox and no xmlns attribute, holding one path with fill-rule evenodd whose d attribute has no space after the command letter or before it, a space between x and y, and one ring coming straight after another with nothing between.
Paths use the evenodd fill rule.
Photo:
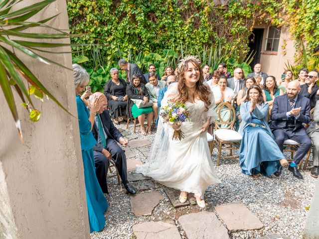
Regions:
<instances>
[{"instance_id":1,"label":"bride's flowing white lace wedding dress","mask_svg":"<svg viewBox=\"0 0 319 239\"><path fill-rule=\"evenodd\" d=\"M161 105L167 105L176 95L177 83L168 88ZM139 166L137 172L152 177L164 186L194 193L201 198L209 185L220 183L211 162L206 132L200 132L204 119L216 119L213 94L211 103L208 111L205 111L202 101L194 104L186 102L191 121L181 124L180 129L185 136L181 141L171 139L174 130L160 119L149 161Z\"/></svg>"}]
</instances>

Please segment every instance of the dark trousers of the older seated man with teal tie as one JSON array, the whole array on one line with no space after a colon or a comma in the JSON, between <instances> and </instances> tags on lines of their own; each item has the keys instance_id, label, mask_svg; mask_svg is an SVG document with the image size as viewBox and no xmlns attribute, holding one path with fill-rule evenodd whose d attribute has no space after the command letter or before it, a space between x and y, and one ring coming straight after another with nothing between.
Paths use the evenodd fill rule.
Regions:
<instances>
[{"instance_id":1,"label":"dark trousers of the older seated man with teal tie","mask_svg":"<svg viewBox=\"0 0 319 239\"><path fill-rule=\"evenodd\" d=\"M123 184L128 183L126 156L122 148L114 139L107 139L106 150L108 150L114 160L115 166L119 171ZM106 176L110 165L109 160L99 151L94 151L95 173L103 193L108 193Z\"/></svg>"}]
</instances>

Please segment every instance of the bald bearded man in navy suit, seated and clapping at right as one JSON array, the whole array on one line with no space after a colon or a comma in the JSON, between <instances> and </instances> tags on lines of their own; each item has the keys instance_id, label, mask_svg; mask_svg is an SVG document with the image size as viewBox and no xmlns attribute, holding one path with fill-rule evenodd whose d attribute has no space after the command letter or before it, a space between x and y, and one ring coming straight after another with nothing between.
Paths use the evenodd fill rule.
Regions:
<instances>
[{"instance_id":1,"label":"bald bearded man in navy suit, seated and clapping at right","mask_svg":"<svg viewBox=\"0 0 319 239\"><path fill-rule=\"evenodd\" d=\"M283 145L286 139L292 139L300 143L294 161L289 165L288 170L296 178L303 179L297 165L309 151L312 142L303 125L303 123L309 123L311 120L310 101L306 97L298 95L300 91L300 84L295 80L288 84L287 95L275 98L271 112L272 124L270 128L281 151L284 149ZM275 173L276 176L280 174L281 169Z\"/></svg>"}]
</instances>

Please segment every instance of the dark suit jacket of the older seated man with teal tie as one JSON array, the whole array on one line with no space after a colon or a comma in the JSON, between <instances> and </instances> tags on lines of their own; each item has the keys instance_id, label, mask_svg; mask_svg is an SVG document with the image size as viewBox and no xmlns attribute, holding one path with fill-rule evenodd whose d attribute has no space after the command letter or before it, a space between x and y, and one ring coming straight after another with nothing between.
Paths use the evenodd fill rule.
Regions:
<instances>
[{"instance_id":1,"label":"dark suit jacket of the older seated man with teal tie","mask_svg":"<svg viewBox=\"0 0 319 239\"><path fill-rule=\"evenodd\" d=\"M114 126L111 117L110 112L108 110L105 110L100 114L100 118L102 121L102 125L104 128L105 133L107 134L108 138L112 138L115 141L119 142L120 137L123 137L122 133ZM94 138L96 141L98 141L99 137L99 129L96 123L94 122L93 129L92 129ZM96 143L93 147L93 150L102 152L103 145L101 143Z\"/></svg>"}]
</instances>

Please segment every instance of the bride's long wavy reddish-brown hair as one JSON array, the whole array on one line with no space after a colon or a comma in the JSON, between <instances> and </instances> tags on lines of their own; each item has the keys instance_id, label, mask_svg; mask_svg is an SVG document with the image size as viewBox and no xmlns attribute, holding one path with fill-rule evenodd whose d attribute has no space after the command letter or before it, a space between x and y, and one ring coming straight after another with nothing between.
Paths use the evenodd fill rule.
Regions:
<instances>
[{"instance_id":1,"label":"bride's long wavy reddish-brown hair","mask_svg":"<svg viewBox=\"0 0 319 239\"><path fill-rule=\"evenodd\" d=\"M184 74L188 69L188 64L191 63L193 64L195 67L198 67L199 69L199 80L196 82L196 89L194 94L191 94L188 90L187 90L187 86L185 85L185 78L184 78ZM210 94L211 91L209 89L209 86L204 85L204 78L203 75L200 71L200 65L197 61L193 60L193 59L189 59L186 60L184 62L184 64L182 64L180 66L180 68L178 69L178 73L177 73L177 82L178 82L178 93L179 93L179 97L178 97L178 101L185 103L187 101L187 99L192 99L194 98L194 95L197 95L198 98L204 102L205 104L205 108L206 111L208 110L208 107L211 105L210 102ZM193 99L195 100L195 99Z\"/></svg>"}]
</instances>

